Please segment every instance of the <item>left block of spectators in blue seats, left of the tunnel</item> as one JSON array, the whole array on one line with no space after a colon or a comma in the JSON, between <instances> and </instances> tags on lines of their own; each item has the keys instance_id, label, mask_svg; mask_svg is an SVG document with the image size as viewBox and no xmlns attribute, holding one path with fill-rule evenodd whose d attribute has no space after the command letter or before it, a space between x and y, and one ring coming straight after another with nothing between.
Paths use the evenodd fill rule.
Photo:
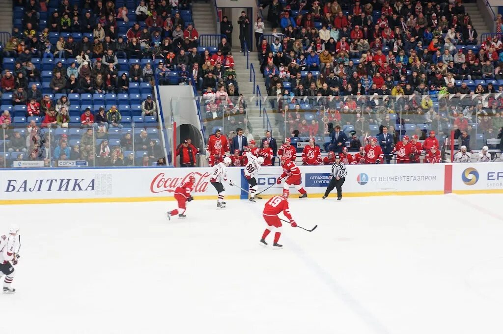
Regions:
<instances>
[{"instance_id":1,"label":"left block of spectators in blue seats, left of the tunnel","mask_svg":"<svg viewBox=\"0 0 503 334\"><path fill-rule=\"evenodd\" d=\"M0 150L8 153L0 164L77 157L91 165L165 164L152 87L155 75L188 70L184 50L197 50L190 1L14 6L2 54Z\"/></svg>"}]
</instances>

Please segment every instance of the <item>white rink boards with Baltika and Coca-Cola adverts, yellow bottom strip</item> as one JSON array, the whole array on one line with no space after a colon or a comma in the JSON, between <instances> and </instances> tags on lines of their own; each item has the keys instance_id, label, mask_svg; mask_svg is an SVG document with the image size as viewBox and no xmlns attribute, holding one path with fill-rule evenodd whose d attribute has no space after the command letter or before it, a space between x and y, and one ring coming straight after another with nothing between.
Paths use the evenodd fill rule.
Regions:
<instances>
[{"instance_id":1,"label":"white rink boards with Baltika and Coca-Cola adverts, yellow bottom strip","mask_svg":"<svg viewBox=\"0 0 503 334\"><path fill-rule=\"evenodd\" d=\"M440 195L445 193L503 193L503 164L385 164L349 165L344 196ZM329 183L330 166L300 166L302 186L309 197L321 197ZM281 194L276 184L283 170L262 168L259 192ZM196 199L216 199L210 168L13 169L0 173L0 204L170 201L176 187L190 175L196 178ZM228 180L248 185L242 168L229 168ZM226 199L245 199L247 193L225 184ZM296 190L290 187L290 192ZM333 193L331 196L334 196Z\"/></svg>"}]
</instances>

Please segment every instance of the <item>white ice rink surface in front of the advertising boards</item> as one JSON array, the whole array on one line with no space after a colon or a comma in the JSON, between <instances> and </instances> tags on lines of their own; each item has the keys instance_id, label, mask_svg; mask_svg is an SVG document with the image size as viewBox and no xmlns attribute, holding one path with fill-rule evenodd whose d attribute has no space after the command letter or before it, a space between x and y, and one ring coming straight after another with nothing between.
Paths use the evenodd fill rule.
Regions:
<instances>
[{"instance_id":1,"label":"white ice rink surface in front of the advertising boards","mask_svg":"<svg viewBox=\"0 0 503 334\"><path fill-rule=\"evenodd\" d=\"M318 228L281 250L259 245L266 200L171 222L176 202L2 206L22 246L0 332L501 333L502 200L292 199Z\"/></svg>"}]
</instances>

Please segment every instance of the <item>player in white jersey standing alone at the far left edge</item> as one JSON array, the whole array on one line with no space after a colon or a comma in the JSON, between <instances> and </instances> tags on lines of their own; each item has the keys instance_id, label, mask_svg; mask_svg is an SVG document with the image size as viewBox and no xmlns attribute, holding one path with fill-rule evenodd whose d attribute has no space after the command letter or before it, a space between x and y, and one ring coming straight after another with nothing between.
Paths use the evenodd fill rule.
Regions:
<instances>
[{"instance_id":1,"label":"player in white jersey standing alone at the far left edge","mask_svg":"<svg viewBox=\"0 0 503 334\"><path fill-rule=\"evenodd\" d=\"M21 247L21 237L19 228L11 226L9 233L0 236L0 277L5 274L4 293L14 293L16 289L11 288L14 280L14 267L18 264L19 248Z\"/></svg>"}]
</instances>

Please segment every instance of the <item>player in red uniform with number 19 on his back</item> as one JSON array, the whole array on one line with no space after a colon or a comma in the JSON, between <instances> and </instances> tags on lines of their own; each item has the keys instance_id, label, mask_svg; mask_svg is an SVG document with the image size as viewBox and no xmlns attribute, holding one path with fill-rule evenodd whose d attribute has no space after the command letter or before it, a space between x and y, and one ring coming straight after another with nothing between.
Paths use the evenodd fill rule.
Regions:
<instances>
[{"instance_id":1,"label":"player in red uniform with number 19 on his back","mask_svg":"<svg viewBox=\"0 0 503 334\"><path fill-rule=\"evenodd\" d=\"M263 216L267 223L267 227L262 234L262 239L260 242L263 246L267 246L266 238L274 229L274 243L273 249L281 249L283 245L279 244L281 232L283 230L283 224L281 223L278 214L283 213L285 217L289 220L292 227L297 227L297 223L293 220L290 214L290 208L288 207L288 194L283 193L282 196L274 196L269 201L267 201L264 207Z\"/></svg>"}]
</instances>

